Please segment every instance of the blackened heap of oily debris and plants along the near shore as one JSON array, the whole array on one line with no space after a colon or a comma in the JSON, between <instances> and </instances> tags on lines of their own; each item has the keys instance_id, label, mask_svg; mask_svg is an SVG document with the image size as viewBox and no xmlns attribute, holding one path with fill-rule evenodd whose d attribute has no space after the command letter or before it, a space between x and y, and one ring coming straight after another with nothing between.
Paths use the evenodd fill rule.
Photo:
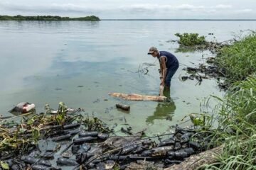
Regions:
<instances>
[{"instance_id":1,"label":"blackened heap of oily debris and plants along the near shore","mask_svg":"<svg viewBox=\"0 0 256 170\"><path fill-rule=\"evenodd\" d=\"M81 109L68 111L63 103L57 113L48 108L23 117L21 124L4 122L0 130L0 169L128 169L141 161L162 169L207 148L205 137L178 125L171 134L116 136L98 118L82 116Z\"/></svg>"}]
</instances>

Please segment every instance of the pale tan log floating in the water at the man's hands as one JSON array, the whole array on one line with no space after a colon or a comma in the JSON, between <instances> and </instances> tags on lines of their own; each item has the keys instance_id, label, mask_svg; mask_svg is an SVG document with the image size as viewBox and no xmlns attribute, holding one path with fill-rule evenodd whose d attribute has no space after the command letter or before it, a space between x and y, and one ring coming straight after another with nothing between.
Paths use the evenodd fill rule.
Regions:
<instances>
[{"instance_id":1,"label":"pale tan log floating in the water at the man's hands","mask_svg":"<svg viewBox=\"0 0 256 170\"><path fill-rule=\"evenodd\" d=\"M112 97L122 98L127 101L165 101L165 96L144 96L140 94L111 93Z\"/></svg>"}]
</instances>

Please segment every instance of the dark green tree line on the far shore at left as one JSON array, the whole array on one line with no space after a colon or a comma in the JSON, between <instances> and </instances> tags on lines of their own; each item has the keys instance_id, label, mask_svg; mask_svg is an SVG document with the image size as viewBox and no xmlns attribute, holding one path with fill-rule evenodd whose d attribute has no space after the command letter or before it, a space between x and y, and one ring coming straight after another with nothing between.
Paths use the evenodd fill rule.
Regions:
<instances>
[{"instance_id":1,"label":"dark green tree line on the far shore at left","mask_svg":"<svg viewBox=\"0 0 256 170\"><path fill-rule=\"evenodd\" d=\"M0 21L100 21L97 16L85 16L79 18L61 17L61 16L0 16Z\"/></svg>"}]
</instances>

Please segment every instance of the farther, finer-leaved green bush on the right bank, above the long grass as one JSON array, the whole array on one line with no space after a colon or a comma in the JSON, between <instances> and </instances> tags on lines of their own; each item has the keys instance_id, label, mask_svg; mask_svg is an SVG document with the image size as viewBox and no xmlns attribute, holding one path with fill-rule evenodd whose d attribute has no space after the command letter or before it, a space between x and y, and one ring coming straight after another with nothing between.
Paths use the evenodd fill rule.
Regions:
<instances>
[{"instance_id":1,"label":"farther, finer-leaved green bush on the right bank, above the long grass","mask_svg":"<svg viewBox=\"0 0 256 170\"><path fill-rule=\"evenodd\" d=\"M224 47L216 63L228 83L246 79L256 72L256 34L252 33L229 47Z\"/></svg>"}]
</instances>

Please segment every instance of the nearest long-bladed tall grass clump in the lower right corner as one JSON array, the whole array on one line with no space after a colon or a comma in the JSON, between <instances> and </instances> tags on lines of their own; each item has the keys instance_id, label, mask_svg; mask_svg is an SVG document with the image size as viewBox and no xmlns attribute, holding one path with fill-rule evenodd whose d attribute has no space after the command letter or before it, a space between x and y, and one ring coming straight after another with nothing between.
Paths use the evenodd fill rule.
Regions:
<instances>
[{"instance_id":1,"label":"nearest long-bladed tall grass clump in the lower right corner","mask_svg":"<svg viewBox=\"0 0 256 170\"><path fill-rule=\"evenodd\" d=\"M212 142L224 143L223 154L203 169L256 169L256 75L235 83L221 102Z\"/></svg>"}]
</instances>

